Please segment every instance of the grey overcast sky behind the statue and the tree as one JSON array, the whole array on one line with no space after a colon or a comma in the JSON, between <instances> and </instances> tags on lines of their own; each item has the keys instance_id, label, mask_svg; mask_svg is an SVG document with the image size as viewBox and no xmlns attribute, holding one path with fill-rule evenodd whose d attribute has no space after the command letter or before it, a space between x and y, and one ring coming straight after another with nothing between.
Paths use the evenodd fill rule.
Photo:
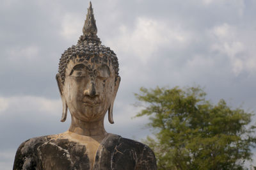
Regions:
<instances>
[{"instance_id":1,"label":"grey overcast sky behind the statue and the tree","mask_svg":"<svg viewBox=\"0 0 256 170\"><path fill-rule=\"evenodd\" d=\"M76 45L89 1L1 0L0 167L12 169L19 144L65 132L55 75ZM141 86L202 86L213 103L256 111L255 0L92 1L103 45L118 56L121 84L115 124L106 130L136 140L147 118L131 119ZM106 120L108 120L106 118Z\"/></svg>"}]
</instances>

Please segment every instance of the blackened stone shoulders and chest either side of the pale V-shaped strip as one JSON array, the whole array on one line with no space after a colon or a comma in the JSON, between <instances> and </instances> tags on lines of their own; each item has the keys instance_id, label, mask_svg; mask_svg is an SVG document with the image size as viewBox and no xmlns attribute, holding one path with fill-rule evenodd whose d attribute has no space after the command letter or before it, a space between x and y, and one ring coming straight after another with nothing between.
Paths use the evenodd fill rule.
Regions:
<instances>
[{"instance_id":1,"label":"blackened stone shoulders and chest either side of the pale V-shaped strip","mask_svg":"<svg viewBox=\"0 0 256 170\"><path fill-rule=\"evenodd\" d=\"M156 169L148 146L114 134L102 140L90 166L86 144L70 140L67 134L36 137L20 144L13 169Z\"/></svg>"}]
</instances>

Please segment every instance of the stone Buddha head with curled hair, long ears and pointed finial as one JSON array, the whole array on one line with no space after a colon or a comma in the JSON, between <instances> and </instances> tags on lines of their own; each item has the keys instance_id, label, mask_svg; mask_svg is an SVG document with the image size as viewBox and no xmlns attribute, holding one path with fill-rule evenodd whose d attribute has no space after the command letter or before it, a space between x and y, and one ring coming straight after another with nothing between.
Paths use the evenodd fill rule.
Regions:
<instances>
[{"instance_id":1,"label":"stone Buddha head with curled hair, long ears and pointed finial","mask_svg":"<svg viewBox=\"0 0 256 170\"><path fill-rule=\"evenodd\" d=\"M113 123L113 104L120 84L118 59L109 47L101 45L92 4L88 8L77 45L63 52L56 75L63 112L61 121L71 116L81 121L98 121L108 111Z\"/></svg>"}]
</instances>

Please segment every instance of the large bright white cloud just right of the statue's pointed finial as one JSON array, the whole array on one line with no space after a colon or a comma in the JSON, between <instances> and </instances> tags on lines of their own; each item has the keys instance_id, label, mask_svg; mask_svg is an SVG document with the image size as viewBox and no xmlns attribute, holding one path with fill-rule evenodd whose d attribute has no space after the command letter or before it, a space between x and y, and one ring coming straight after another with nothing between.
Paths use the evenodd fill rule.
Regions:
<instances>
[{"instance_id":1,"label":"large bright white cloud just right of the statue's pointed finial","mask_svg":"<svg viewBox=\"0 0 256 170\"><path fill-rule=\"evenodd\" d=\"M109 40L111 47L116 47L121 52L131 54L140 59L140 63L145 64L152 58L152 54L161 48L182 48L191 40L188 31L181 29L178 23L174 26L161 20L138 17L134 27L124 24L120 26L118 37ZM128 55L127 55L128 56Z\"/></svg>"}]
</instances>

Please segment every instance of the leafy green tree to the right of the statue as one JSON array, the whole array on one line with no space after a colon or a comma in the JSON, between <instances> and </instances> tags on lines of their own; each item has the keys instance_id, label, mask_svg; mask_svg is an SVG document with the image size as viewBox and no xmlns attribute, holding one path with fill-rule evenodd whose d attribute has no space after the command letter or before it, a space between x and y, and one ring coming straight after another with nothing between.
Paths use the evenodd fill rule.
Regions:
<instances>
[{"instance_id":1,"label":"leafy green tree to the right of the statue","mask_svg":"<svg viewBox=\"0 0 256 170\"><path fill-rule=\"evenodd\" d=\"M252 112L232 109L224 100L213 105L200 87L141 88L135 94L149 116L158 169L243 169L255 147Z\"/></svg>"}]
</instances>

